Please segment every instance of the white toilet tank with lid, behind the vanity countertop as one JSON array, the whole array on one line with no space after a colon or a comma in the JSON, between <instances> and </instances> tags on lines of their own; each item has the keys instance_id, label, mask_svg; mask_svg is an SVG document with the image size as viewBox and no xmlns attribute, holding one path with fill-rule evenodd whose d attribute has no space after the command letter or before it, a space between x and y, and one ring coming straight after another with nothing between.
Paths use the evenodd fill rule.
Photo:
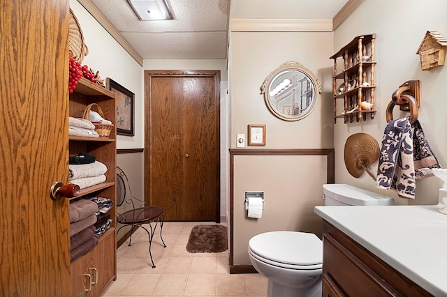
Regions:
<instances>
[{"instance_id":1,"label":"white toilet tank with lid, behind the vanity countertop","mask_svg":"<svg viewBox=\"0 0 447 297\"><path fill-rule=\"evenodd\" d=\"M394 199L352 185L330 183L323 185L325 205L395 205Z\"/></svg>"}]
</instances>

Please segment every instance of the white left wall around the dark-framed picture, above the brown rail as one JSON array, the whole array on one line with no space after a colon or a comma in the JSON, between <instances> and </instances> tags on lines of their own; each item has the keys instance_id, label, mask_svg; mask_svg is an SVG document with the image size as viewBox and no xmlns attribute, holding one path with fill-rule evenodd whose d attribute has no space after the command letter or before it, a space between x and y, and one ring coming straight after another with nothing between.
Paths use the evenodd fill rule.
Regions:
<instances>
[{"instance_id":1,"label":"white left wall around the dark-framed picture, above the brown rail","mask_svg":"<svg viewBox=\"0 0 447 297\"><path fill-rule=\"evenodd\" d=\"M135 94L135 136L117 135L117 148L143 148L145 105L142 67L78 1L70 0L70 8L78 18L85 44L89 48L89 54L81 64L99 71L103 79L110 77Z\"/></svg>"}]
</instances>

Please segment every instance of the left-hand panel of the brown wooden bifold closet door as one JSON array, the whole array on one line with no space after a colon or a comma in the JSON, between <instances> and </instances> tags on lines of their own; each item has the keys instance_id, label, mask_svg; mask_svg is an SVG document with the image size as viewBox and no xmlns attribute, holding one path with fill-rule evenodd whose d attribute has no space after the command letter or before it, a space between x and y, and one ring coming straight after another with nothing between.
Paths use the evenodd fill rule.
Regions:
<instances>
[{"instance_id":1,"label":"left-hand panel of the brown wooden bifold closet door","mask_svg":"<svg viewBox=\"0 0 447 297\"><path fill-rule=\"evenodd\" d=\"M182 99L182 85L170 77L152 79L152 149L150 205L160 206L168 218L177 218L183 197L183 105L173 98ZM154 91L153 91L154 93ZM147 168L147 166L145 166ZM148 196L147 196L148 197Z\"/></svg>"}]
</instances>

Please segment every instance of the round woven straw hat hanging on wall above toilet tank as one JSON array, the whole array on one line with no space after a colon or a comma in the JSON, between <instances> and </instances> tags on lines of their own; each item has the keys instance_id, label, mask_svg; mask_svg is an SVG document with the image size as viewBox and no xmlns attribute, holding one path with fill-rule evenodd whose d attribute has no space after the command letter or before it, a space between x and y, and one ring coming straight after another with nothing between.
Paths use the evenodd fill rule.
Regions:
<instances>
[{"instance_id":1,"label":"round woven straw hat hanging on wall above toilet tank","mask_svg":"<svg viewBox=\"0 0 447 297\"><path fill-rule=\"evenodd\" d=\"M374 180L368 166L379 160L380 148L376 139L366 133L356 133L346 139L344 144L344 164L354 177L360 177L364 171Z\"/></svg>"}]
</instances>

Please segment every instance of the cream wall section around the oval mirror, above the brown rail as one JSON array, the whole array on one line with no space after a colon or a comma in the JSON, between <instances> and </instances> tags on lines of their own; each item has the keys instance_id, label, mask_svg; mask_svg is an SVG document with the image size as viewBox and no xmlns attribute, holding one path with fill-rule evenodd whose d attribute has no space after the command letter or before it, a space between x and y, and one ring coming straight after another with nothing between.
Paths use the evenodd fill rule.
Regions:
<instances>
[{"instance_id":1,"label":"cream wall section around the oval mirror, above the brown rail","mask_svg":"<svg viewBox=\"0 0 447 297\"><path fill-rule=\"evenodd\" d=\"M230 61L231 147L247 125L266 124L265 148L332 148L332 32L232 32ZM265 105L261 85L282 63L296 61L323 85L312 113L278 119Z\"/></svg>"}]
</instances>

